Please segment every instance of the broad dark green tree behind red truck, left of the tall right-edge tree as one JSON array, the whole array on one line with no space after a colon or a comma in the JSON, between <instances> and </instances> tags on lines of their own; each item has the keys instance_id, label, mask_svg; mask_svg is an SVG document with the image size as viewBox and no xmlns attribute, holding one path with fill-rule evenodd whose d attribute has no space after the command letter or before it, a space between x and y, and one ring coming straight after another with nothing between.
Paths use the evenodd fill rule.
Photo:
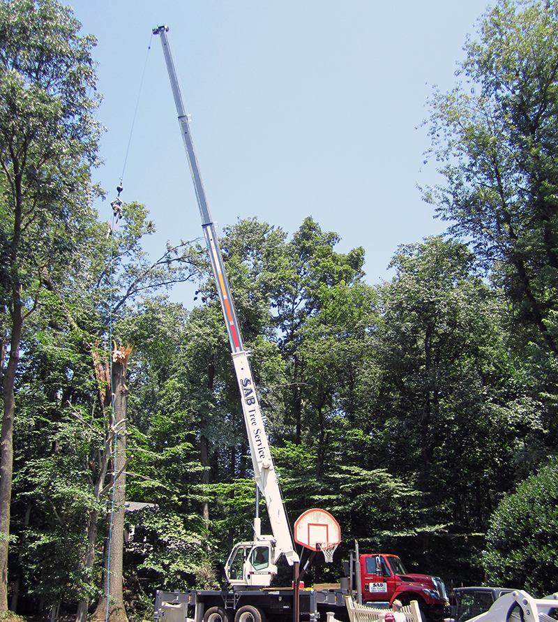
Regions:
<instances>
[{"instance_id":1,"label":"broad dark green tree behind red truck, left of the tall right-edge tree","mask_svg":"<svg viewBox=\"0 0 558 622\"><path fill-rule=\"evenodd\" d=\"M372 456L421 491L412 527L428 551L435 533L485 530L540 422L504 347L504 309L467 246L429 238L400 247L392 265L380 288Z\"/></svg>"}]
</instances>

